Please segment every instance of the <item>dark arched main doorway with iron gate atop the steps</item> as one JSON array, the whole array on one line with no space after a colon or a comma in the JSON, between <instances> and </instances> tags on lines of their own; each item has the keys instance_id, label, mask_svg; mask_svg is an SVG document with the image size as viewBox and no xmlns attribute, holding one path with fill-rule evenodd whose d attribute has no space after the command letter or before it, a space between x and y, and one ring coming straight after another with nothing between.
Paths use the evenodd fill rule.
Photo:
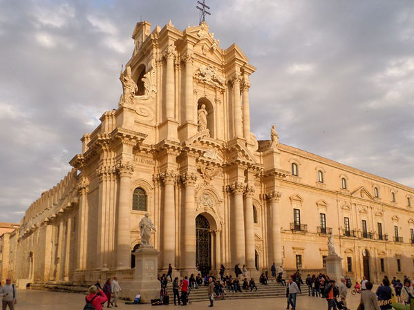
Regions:
<instances>
[{"instance_id":1,"label":"dark arched main doorway with iron gate atop the steps","mask_svg":"<svg viewBox=\"0 0 414 310\"><path fill-rule=\"evenodd\" d=\"M210 224L201 214L196 217L196 264L202 275L211 270Z\"/></svg>"}]
</instances>

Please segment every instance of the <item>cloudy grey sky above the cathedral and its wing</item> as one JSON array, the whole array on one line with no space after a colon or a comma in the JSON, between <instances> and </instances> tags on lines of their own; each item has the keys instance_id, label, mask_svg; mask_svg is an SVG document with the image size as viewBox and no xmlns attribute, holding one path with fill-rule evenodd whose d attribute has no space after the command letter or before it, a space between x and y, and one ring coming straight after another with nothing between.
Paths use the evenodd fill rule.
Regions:
<instances>
[{"instance_id":1,"label":"cloudy grey sky above the cathedral and its wing","mask_svg":"<svg viewBox=\"0 0 414 310\"><path fill-rule=\"evenodd\" d=\"M252 131L414 186L414 1L207 0L237 43ZM196 1L0 0L0 222L18 222L68 171L122 92L137 21L198 24Z\"/></svg>"}]
</instances>

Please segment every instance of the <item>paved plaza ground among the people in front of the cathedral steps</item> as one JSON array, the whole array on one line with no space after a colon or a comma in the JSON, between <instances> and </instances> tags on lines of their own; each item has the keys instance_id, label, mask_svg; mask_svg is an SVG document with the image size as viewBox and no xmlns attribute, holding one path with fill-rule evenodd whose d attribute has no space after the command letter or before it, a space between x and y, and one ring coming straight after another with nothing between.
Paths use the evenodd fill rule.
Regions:
<instances>
[{"instance_id":1,"label":"paved plaza ground among the people in front of the cathedral steps","mask_svg":"<svg viewBox=\"0 0 414 310\"><path fill-rule=\"evenodd\" d=\"M375 288L376 289L376 288ZM348 307L357 309L359 296L348 293ZM78 293L57 293L49 291L19 291L19 299L16 309L24 310L75 310L83 309L84 295ZM207 309L209 302L194 302L187 305L187 309ZM174 304L160 306L163 308L174 308ZM243 300L220 300L214 302L216 309L286 309L286 298L252 298ZM297 299L297 310L319 310L327 309L326 300L300 296ZM107 309L106 307L104 309ZM116 309L153 309L151 304L124 304L121 301Z\"/></svg>"}]
</instances>

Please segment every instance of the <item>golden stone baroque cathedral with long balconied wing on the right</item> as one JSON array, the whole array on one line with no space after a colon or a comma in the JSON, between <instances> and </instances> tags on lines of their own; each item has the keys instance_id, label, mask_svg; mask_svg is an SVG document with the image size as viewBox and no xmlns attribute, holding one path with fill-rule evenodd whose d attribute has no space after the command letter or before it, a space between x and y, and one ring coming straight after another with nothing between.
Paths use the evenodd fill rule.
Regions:
<instances>
[{"instance_id":1,"label":"golden stone baroque cathedral with long balconied wing on the right","mask_svg":"<svg viewBox=\"0 0 414 310\"><path fill-rule=\"evenodd\" d=\"M414 276L414 188L280 144L275 128L258 141L256 68L206 23L151 30L142 21L132 38L117 108L82 137L64 180L0 238L1 278L129 281L146 213L160 273L245 264L258 276L273 262L319 272L332 233L344 275Z\"/></svg>"}]
</instances>

